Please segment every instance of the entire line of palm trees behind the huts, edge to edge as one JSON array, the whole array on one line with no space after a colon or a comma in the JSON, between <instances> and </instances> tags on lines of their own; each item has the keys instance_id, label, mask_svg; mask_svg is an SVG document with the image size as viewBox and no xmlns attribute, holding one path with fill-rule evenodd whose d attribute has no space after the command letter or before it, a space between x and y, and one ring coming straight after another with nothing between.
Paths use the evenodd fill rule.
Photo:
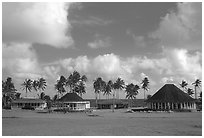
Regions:
<instances>
[{"instance_id":1,"label":"entire line of palm trees behind the huts, edge to edge","mask_svg":"<svg viewBox=\"0 0 204 138\"><path fill-rule=\"evenodd\" d=\"M54 88L57 91L57 94L52 98L53 101L59 99L66 93L77 93L79 96L83 96L86 93L86 82L88 81L86 75L81 75L79 72L74 71L70 73L70 75L66 78L63 75L56 81ZM138 84L130 83L125 84L124 80L120 77L116 79L115 82L112 80L104 81L102 77L97 77L93 80L93 89L95 93L95 100L97 105L97 100L100 99L101 94L106 96L106 99L109 99L112 96L112 99L115 98L119 99L120 91L124 90L126 93L127 99L135 99L139 93L139 89L143 89L144 99L146 99L146 92L149 90L150 81L148 77L144 77L140 83ZM194 94L193 89L187 88L188 83L182 80L180 86L188 95L192 96ZM192 83L195 87L195 94L196 88L201 86L201 81L197 79L195 82ZM47 87L47 82L44 78L39 78L37 80L25 79L24 82L21 84L22 90L25 90L26 97L27 93L35 90L39 99L46 99L50 100L49 95L45 95L44 90ZM9 97L10 99L17 99L20 98L20 93L16 93L15 86L12 82L12 78L8 77L6 81L2 81L2 92L3 97ZM14 93L14 94L12 94ZM202 93L200 94L200 97ZM151 95L147 95L147 98L150 98ZM195 98L197 95L195 95ZM9 99L7 98L7 99Z\"/></svg>"}]
</instances>

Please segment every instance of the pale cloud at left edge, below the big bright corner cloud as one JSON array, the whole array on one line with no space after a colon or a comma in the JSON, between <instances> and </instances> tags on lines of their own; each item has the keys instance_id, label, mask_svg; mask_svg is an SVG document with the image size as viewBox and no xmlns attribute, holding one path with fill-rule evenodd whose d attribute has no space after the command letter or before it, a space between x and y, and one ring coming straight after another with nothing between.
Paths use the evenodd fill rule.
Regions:
<instances>
[{"instance_id":1,"label":"pale cloud at left edge, below the big bright corner cloud","mask_svg":"<svg viewBox=\"0 0 204 138\"><path fill-rule=\"evenodd\" d=\"M2 46L2 68L18 78L38 78L40 65L32 46L27 43L10 43Z\"/></svg>"}]
</instances>

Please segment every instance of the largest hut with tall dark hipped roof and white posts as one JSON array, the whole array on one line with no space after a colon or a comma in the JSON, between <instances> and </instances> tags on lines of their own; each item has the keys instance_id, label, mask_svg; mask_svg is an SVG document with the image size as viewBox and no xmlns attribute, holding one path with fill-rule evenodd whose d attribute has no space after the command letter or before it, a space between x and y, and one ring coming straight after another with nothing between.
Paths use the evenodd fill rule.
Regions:
<instances>
[{"instance_id":1,"label":"largest hut with tall dark hipped roof and white posts","mask_svg":"<svg viewBox=\"0 0 204 138\"><path fill-rule=\"evenodd\" d=\"M196 100L174 84L165 84L147 101L152 110L195 110Z\"/></svg>"}]
</instances>

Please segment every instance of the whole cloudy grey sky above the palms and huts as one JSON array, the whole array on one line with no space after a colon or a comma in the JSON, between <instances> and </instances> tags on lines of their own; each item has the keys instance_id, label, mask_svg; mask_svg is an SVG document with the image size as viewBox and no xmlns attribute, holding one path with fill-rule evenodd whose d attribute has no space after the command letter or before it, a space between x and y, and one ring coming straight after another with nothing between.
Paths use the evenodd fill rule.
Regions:
<instances>
[{"instance_id":1,"label":"whole cloudy grey sky above the palms and huts","mask_svg":"<svg viewBox=\"0 0 204 138\"><path fill-rule=\"evenodd\" d=\"M202 79L202 3L2 3L2 80L12 77L24 97L24 80L43 77L52 97L74 70L88 77L89 99L97 77L139 86L148 77L150 95L182 80L193 88Z\"/></svg>"}]
</instances>

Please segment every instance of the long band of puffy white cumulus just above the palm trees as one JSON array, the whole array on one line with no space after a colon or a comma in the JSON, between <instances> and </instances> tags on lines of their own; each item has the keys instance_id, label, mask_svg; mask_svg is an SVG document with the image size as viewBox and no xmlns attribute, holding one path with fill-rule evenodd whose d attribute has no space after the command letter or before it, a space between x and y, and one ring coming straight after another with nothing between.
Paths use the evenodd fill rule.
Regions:
<instances>
[{"instance_id":1,"label":"long band of puffy white cumulus just above the palm trees","mask_svg":"<svg viewBox=\"0 0 204 138\"><path fill-rule=\"evenodd\" d=\"M164 49L163 57L151 59L145 56L122 58L113 53L95 58L79 56L61 60L60 65L68 72L78 70L106 79L121 77L127 82L138 82L139 76L149 75L144 71L162 77L161 82L179 81L181 78L193 81L202 75L201 53L189 53L186 49ZM152 85L156 85L152 77L149 79Z\"/></svg>"}]
</instances>

